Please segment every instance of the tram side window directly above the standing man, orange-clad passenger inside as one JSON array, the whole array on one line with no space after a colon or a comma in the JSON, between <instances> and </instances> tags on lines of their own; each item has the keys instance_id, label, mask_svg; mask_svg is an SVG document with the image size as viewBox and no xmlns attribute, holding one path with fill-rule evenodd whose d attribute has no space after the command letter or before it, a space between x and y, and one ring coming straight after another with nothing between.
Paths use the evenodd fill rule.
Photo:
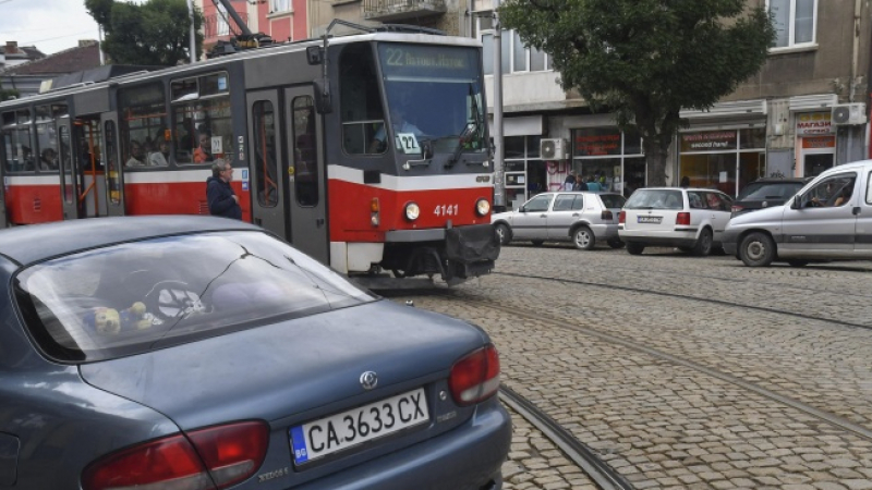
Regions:
<instances>
[{"instance_id":1,"label":"tram side window directly above the standing man, orange-clad passenger inside","mask_svg":"<svg viewBox=\"0 0 872 490\"><path fill-rule=\"evenodd\" d=\"M230 87L225 72L173 81L172 121L175 160L208 164L232 161Z\"/></svg>"}]
</instances>

